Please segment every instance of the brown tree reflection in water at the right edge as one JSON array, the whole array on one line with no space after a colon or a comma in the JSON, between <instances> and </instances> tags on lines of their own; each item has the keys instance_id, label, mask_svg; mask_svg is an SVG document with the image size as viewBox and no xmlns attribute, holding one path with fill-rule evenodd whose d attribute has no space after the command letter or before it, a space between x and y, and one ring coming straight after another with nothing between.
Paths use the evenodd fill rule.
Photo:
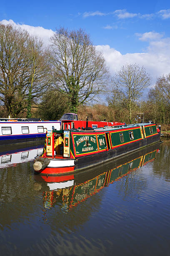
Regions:
<instances>
[{"instance_id":1,"label":"brown tree reflection in water at the right edge","mask_svg":"<svg viewBox=\"0 0 170 256\"><path fill-rule=\"evenodd\" d=\"M161 143L160 153L153 163L153 173L163 176L166 181L170 181L170 141Z\"/></svg>"}]
</instances>

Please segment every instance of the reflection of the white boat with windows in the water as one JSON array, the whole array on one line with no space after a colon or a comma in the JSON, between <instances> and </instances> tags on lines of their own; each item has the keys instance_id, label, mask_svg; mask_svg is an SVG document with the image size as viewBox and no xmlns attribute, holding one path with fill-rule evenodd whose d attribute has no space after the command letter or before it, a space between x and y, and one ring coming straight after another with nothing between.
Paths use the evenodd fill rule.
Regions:
<instances>
[{"instance_id":1,"label":"reflection of the white boat with windows in the water","mask_svg":"<svg viewBox=\"0 0 170 256\"><path fill-rule=\"evenodd\" d=\"M33 159L35 159L35 156L42 155L42 151L42 145L36 145L27 148L0 152L0 168L5 168L26 161L32 161Z\"/></svg>"}]
</instances>

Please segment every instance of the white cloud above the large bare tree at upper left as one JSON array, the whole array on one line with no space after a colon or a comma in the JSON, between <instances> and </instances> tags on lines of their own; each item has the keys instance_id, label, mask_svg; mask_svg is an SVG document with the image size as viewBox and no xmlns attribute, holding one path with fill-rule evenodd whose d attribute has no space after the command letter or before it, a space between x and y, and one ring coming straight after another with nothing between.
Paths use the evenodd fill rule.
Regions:
<instances>
[{"instance_id":1,"label":"white cloud above the large bare tree at upper left","mask_svg":"<svg viewBox=\"0 0 170 256\"><path fill-rule=\"evenodd\" d=\"M39 26L34 27L34 26L25 25L25 24L19 24L19 23L15 23L13 20L1 20L1 22L3 24L12 24L17 28L23 28L27 30L31 35L36 35L40 37L43 40L45 45L49 44L49 38L54 33L54 31L52 31L51 29L46 29Z\"/></svg>"}]
</instances>

